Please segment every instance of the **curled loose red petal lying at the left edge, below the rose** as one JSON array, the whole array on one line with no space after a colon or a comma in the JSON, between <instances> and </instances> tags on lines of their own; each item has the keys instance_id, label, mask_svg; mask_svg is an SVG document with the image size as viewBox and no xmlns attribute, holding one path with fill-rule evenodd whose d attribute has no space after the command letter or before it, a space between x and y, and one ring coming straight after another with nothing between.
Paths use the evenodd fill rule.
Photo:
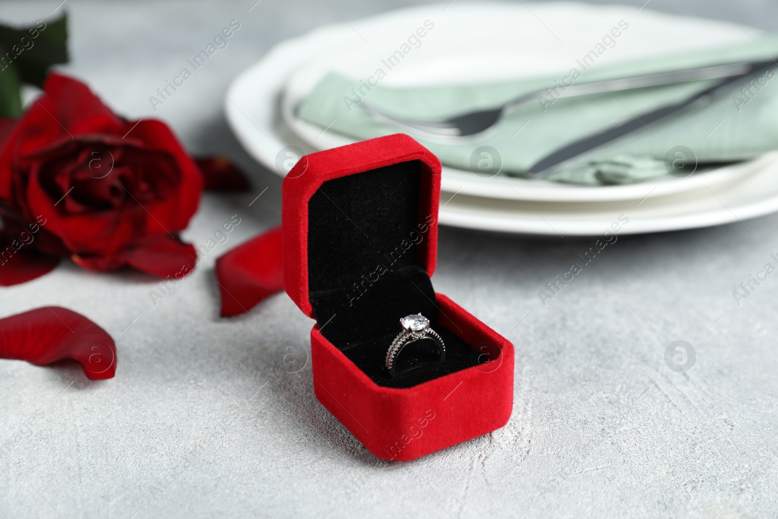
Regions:
<instances>
[{"instance_id":1,"label":"curled loose red petal lying at the left edge, below the rose","mask_svg":"<svg viewBox=\"0 0 778 519\"><path fill-rule=\"evenodd\" d=\"M0 319L0 358L38 366L75 359L91 380L114 377L116 344L103 328L81 314L45 307Z\"/></svg>"}]
</instances>

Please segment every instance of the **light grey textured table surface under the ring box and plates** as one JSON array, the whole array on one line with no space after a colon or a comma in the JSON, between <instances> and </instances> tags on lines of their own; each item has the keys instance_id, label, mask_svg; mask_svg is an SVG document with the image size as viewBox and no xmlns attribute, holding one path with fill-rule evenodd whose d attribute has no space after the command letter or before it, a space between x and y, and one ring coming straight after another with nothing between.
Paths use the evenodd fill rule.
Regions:
<instances>
[{"instance_id":1,"label":"light grey textured table surface under the ring box and plates","mask_svg":"<svg viewBox=\"0 0 778 519\"><path fill-rule=\"evenodd\" d=\"M58 3L4 2L0 18L34 21ZM313 322L286 294L219 319L214 259L279 223L281 185L240 149L219 89L279 40L411 3L59 8L71 16L64 69L131 117L148 117L164 79L240 20L230 47L155 115L189 149L232 156L256 191L205 195L187 240L204 243L234 214L241 223L156 307L155 279L66 261L0 289L0 316L70 307L118 352L116 377L100 382L78 366L0 361L0 517L778 516L778 278L739 306L732 295L775 263L778 216L619 237L545 306L538 290L594 239L441 228L433 284L516 345L515 403L503 429L408 463L377 461L317 402L310 364L283 369L279 345L307 344ZM778 28L767 0L644 9ZM676 340L696 350L685 373L665 363Z\"/></svg>"}]
</instances>

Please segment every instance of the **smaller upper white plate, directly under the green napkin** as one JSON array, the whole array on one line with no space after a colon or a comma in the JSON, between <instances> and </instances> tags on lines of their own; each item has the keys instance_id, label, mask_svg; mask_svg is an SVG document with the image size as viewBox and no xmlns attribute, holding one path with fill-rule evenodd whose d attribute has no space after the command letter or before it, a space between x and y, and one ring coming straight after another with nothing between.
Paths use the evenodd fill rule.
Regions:
<instances>
[{"instance_id":1,"label":"smaller upper white plate, directly under the green napkin","mask_svg":"<svg viewBox=\"0 0 778 519\"><path fill-rule=\"evenodd\" d=\"M335 132L322 132L315 124L295 116L296 107L310 94L324 75L335 71L356 81L386 68L380 58L390 55L424 16L435 23L400 65L381 81L383 86L463 84L532 76L562 75L577 66L571 56L586 54L592 42L619 20L629 20L613 48L602 54L594 66L608 65L647 55L692 51L750 41L740 27L708 20L646 12L636 19L631 8L594 7L574 3L532 5L478 4L447 9L410 9L388 16L342 26L342 37L333 42L322 37L311 44L314 54L289 78L282 96L284 121L314 149L329 149L355 142ZM564 45L538 23L538 18L564 35ZM434 22L432 22L434 20ZM520 28L521 30L516 30ZM468 34L468 38L463 38ZM675 37L668 37L675 34ZM365 38L367 41L362 40ZM473 74L472 71L478 71ZM645 186L654 195L669 195L707 185L713 187L741 174L739 168L710 171L684 179L664 177L640 185L574 186L558 182L510 177L483 178L471 171L443 167L443 191L490 198L558 202L598 202L643 198Z\"/></svg>"}]
</instances>

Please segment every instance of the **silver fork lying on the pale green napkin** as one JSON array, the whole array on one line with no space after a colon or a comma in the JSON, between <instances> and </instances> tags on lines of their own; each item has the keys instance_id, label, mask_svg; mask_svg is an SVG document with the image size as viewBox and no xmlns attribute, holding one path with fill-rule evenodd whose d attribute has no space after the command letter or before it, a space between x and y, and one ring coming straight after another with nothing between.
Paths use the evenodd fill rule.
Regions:
<instances>
[{"instance_id":1,"label":"silver fork lying on the pale green napkin","mask_svg":"<svg viewBox=\"0 0 778 519\"><path fill-rule=\"evenodd\" d=\"M712 65L708 67L689 68L687 70L675 70L671 72L658 72L656 74L636 75L633 77L606 79L571 86L565 86L559 97L587 96L593 93L619 92L623 90L645 88L647 86L674 85L683 82L700 81L703 79L728 78L745 74L752 69L755 62L741 61L724 65ZM561 89L559 89L561 90ZM492 128L500 117L520 104L532 100L538 100L541 96L548 95L548 88L534 90L518 96L501 107L489 110L476 110L454 117L440 118L437 120L419 120L410 117L387 114L384 110L374 107L363 101L359 106L373 117L373 120L382 124L400 128L405 132L426 134L436 140L460 139L461 137L473 137L482 134ZM423 137L422 137L423 138Z\"/></svg>"}]
</instances>

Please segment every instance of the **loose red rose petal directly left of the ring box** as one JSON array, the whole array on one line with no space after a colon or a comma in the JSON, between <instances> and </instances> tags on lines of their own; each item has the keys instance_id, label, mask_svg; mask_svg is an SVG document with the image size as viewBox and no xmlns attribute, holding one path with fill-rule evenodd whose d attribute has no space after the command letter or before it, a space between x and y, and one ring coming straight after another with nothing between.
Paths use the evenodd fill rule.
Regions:
<instances>
[{"instance_id":1,"label":"loose red rose petal directly left of the ring box","mask_svg":"<svg viewBox=\"0 0 778 519\"><path fill-rule=\"evenodd\" d=\"M222 317L247 312L284 289L281 226L240 244L216 260Z\"/></svg>"}]
</instances>

